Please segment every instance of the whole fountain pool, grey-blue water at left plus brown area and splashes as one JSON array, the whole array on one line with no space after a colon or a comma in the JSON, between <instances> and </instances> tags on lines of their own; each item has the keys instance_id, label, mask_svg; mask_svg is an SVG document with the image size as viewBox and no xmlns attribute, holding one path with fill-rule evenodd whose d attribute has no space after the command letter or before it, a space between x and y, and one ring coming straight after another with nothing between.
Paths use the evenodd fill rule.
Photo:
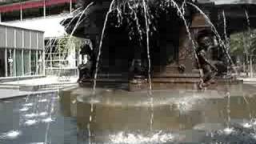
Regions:
<instances>
[{"instance_id":1,"label":"whole fountain pool, grey-blue water at left plus brown area and splashes","mask_svg":"<svg viewBox=\"0 0 256 144\"><path fill-rule=\"evenodd\" d=\"M256 142L253 85L152 90L153 110L147 91L123 87L98 88L96 95L77 87L1 100L0 143Z\"/></svg>"}]
</instances>

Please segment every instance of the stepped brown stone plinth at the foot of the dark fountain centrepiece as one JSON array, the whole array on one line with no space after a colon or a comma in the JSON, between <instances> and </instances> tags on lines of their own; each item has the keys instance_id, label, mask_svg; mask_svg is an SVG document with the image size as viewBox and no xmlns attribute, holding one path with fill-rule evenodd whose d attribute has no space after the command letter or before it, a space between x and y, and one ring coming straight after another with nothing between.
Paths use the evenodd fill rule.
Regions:
<instances>
[{"instance_id":1,"label":"stepped brown stone plinth at the foot of the dark fountain centrepiece","mask_svg":"<svg viewBox=\"0 0 256 144\"><path fill-rule=\"evenodd\" d=\"M201 78L199 74L161 74L151 78L153 90L200 90L198 87ZM81 87L93 86L94 79L86 79L79 83ZM240 85L242 80L237 78L215 78L215 83L207 86L208 90L222 89L227 85ZM142 91L149 89L147 78L124 78L122 76L99 76L97 79L98 87L113 87L128 91Z\"/></svg>"}]
</instances>

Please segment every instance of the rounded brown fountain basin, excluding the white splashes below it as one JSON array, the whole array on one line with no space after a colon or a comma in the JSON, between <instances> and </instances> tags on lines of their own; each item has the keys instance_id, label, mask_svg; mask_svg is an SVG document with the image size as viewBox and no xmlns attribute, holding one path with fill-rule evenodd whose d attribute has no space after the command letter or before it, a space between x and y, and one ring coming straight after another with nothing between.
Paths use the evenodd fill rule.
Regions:
<instances>
[{"instance_id":1,"label":"rounded brown fountain basin, excluding the white splashes below it","mask_svg":"<svg viewBox=\"0 0 256 144\"><path fill-rule=\"evenodd\" d=\"M113 135L121 132L124 135L147 135L159 131L179 135L178 142L185 142L192 141L182 139L191 131L200 135L199 131L217 134L225 129L227 91L230 92L231 126L241 129L243 120L250 122L250 113L254 115L251 111L254 110L254 86L226 86L226 90L203 92L153 90L152 96L146 91L129 92L113 88L98 88L96 94L91 95L90 89L78 87L62 90L61 99L62 107L69 111L67 115L77 118L78 130L87 131L90 125L91 138L95 142L109 142ZM153 105L150 98L153 98ZM204 134L201 136L205 137ZM200 142L200 138L194 141Z\"/></svg>"}]
</instances>

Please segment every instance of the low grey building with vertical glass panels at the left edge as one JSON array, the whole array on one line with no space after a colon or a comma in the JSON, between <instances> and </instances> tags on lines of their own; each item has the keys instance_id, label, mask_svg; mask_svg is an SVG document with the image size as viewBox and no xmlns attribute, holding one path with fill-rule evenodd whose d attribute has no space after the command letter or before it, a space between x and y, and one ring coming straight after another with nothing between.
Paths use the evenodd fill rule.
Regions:
<instances>
[{"instance_id":1,"label":"low grey building with vertical glass panels at the left edge","mask_svg":"<svg viewBox=\"0 0 256 144\"><path fill-rule=\"evenodd\" d=\"M0 24L0 77L44 75L43 34Z\"/></svg>"}]
</instances>

